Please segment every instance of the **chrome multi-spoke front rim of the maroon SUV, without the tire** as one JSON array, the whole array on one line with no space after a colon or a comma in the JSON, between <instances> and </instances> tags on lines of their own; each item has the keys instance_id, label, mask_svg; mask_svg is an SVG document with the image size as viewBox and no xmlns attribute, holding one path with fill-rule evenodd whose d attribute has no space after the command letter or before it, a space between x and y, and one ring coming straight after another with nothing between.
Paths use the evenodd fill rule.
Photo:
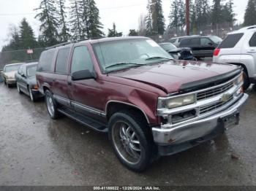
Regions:
<instances>
[{"instance_id":1,"label":"chrome multi-spoke front rim of the maroon SUV, without the tire","mask_svg":"<svg viewBox=\"0 0 256 191\"><path fill-rule=\"evenodd\" d=\"M127 163L136 164L140 161L140 141L135 130L124 121L113 125L112 139L118 154Z\"/></svg>"}]
</instances>

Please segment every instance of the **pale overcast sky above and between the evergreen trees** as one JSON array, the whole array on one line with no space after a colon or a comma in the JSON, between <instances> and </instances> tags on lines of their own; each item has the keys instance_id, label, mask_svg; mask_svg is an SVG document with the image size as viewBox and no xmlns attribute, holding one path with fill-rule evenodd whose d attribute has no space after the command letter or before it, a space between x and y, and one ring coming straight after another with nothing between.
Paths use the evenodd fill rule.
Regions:
<instances>
[{"instance_id":1,"label":"pale overcast sky above and between the evergreen trees","mask_svg":"<svg viewBox=\"0 0 256 191\"><path fill-rule=\"evenodd\" d=\"M0 0L0 50L8 43L8 31L10 26L18 26L23 17L26 17L37 36L39 34L39 21L34 18L40 0ZM67 0L68 1L68 0ZM108 28L116 23L118 32L124 35L129 29L138 29L138 20L141 14L146 14L148 0L95 0L99 8L104 32L108 34ZM165 20L170 14L170 4L173 0L162 0L162 8ZM211 1L211 0L210 0ZM244 22L244 11L248 0L234 0L234 12L239 23Z\"/></svg>"}]
</instances>

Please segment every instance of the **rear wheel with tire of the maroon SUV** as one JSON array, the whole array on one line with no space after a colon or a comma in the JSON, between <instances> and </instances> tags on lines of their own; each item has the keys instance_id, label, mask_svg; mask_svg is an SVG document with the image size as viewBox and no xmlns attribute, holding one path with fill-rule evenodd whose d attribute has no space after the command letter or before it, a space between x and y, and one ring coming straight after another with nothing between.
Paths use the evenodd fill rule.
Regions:
<instances>
[{"instance_id":1,"label":"rear wheel with tire of the maroon SUV","mask_svg":"<svg viewBox=\"0 0 256 191\"><path fill-rule=\"evenodd\" d=\"M53 95L49 90L45 91L45 104L50 117L53 120L56 120L59 117L59 112L57 111L56 101L54 100Z\"/></svg>"}]
</instances>

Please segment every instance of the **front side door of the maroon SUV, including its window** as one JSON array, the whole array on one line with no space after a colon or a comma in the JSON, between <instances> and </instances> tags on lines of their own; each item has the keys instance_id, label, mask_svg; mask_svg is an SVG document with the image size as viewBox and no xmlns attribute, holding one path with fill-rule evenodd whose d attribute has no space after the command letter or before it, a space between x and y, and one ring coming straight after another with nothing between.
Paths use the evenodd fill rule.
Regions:
<instances>
[{"instance_id":1,"label":"front side door of the maroon SUV, including its window","mask_svg":"<svg viewBox=\"0 0 256 191\"><path fill-rule=\"evenodd\" d=\"M72 81L71 74L75 71L89 70L94 73L94 63L91 59L89 48L86 45L74 47L69 76L69 93L72 107L76 112L80 112L96 120L103 120L101 106L101 84L97 79L82 79Z\"/></svg>"}]
</instances>

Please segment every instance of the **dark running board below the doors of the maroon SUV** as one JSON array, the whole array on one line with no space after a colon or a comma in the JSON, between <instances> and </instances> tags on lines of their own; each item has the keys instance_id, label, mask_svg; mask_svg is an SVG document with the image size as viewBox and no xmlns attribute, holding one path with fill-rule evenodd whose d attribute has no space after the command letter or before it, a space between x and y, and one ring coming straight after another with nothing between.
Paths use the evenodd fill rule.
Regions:
<instances>
[{"instance_id":1,"label":"dark running board below the doors of the maroon SUV","mask_svg":"<svg viewBox=\"0 0 256 191\"><path fill-rule=\"evenodd\" d=\"M86 117L82 114L77 114L75 112L72 112L70 109L64 109L64 108L59 108L58 112L66 115L69 118L72 118L72 120L80 122L82 125L85 125L93 130L103 132L103 133L108 132L108 128L106 125L104 125L101 122L97 122L96 120L93 120L90 117Z\"/></svg>"}]
</instances>

